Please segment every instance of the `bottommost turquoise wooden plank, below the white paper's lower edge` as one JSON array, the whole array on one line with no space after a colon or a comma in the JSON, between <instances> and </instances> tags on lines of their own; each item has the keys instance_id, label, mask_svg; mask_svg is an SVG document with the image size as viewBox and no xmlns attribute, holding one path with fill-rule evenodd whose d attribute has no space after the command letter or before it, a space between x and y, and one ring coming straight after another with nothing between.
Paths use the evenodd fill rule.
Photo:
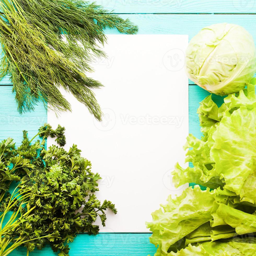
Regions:
<instances>
[{"instance_id":1,"label":"bottommost turquoise wooden plank, below the white paper's lower edge","mask_svg":"<svg viewBox=\"0 0 256 256\"><path fill-rule=\"evenodd\" d=\"M145 256L154 255L156 248L149 243L151 234L98 234L96 236L79 234L73 243L69 244L70 256ZM10 256L26 255L26 248L19 247L9 254ZM35 250L29 253L30 256L47 255L54 256L49 246L42 251Z\"/></svg>"}]
</instances>

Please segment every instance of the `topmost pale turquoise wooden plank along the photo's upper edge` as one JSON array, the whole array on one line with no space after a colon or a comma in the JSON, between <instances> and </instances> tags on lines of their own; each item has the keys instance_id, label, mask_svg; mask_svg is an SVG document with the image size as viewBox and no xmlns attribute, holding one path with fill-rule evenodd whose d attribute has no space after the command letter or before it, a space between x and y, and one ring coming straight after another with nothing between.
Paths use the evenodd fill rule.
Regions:
<instances>
[{"instance_id":1,"label":"topmost pale turquoise wooden plank along the photo's upper edge","mask_svg":"<svg viewBox=\"0 0 256 256\"><path fill-rule=\"evenodd\" d=\"M254 0L96 0L114 13L255 13Z\"/></svg>"}]
</instances>

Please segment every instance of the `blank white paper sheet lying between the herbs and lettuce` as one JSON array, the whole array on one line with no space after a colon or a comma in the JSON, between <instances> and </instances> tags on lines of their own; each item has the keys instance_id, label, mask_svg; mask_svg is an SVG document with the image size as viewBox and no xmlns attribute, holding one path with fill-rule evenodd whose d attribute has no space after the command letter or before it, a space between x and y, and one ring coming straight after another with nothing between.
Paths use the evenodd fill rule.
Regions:
<instances>
[{"instance_id":1,"label":"blank white paper sheet lying between the herbs and lettuce","mask_svg":"<svg viewBox=\"0 0 256 256\"><path fill-rule=\"evenodd\" d=\"M98 198L116 205L101 232L148 231L150 214L187 187L175 189L170 174L188 135L187 45L186 35L108 35L108 59L90 75L105 86L95 90L103 121L64 91L72 113L48 112L48 123L66 127L66 148L77 144L101 175Z\"/></svg>"}]
</instances>

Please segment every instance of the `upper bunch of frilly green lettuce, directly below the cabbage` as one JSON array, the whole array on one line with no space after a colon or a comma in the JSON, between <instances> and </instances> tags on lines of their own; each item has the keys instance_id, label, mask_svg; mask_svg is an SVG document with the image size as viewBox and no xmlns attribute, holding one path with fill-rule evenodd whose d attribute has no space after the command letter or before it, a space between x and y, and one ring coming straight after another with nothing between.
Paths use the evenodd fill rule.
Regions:
<instances>
[{"instance_id":1,"label":"upper bunch of frilly green lettuce, directly below the cabbage","mask_svg":"<svg viewBox=\"0 0 256 256\"><path fill-rule=\"evenodd\" d=\"M183 169L176 164L173 182L187 182L236 193L241 201L256 200L256 79L239 94L230 94L218 108L211 95L198 109L201 139L189 135L184 149L187 162L193 167ZM181 179L182 177L182 179Z\"/></svg>"}]
</instances>

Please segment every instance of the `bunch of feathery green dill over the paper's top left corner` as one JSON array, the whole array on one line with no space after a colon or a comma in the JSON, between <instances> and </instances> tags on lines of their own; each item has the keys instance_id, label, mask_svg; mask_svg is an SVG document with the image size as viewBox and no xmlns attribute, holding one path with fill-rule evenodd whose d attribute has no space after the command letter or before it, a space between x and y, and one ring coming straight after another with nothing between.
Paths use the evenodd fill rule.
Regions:
<instances>
[{"instance_id":1,"label":"bunch of feathery green dill over the paper's top left corner","mask_svg":"<svg viewBox=\"0 0 256 256\"><path fill-rule=\"evenodd\" d=\"M91 61L105 57L100 49L107 41L105 28L126 34L138 28L95 3L81 1L1 0L0 10L0 79L11 75L19 112L33 110L39 100L56 113L71 111L59 91L62 87L101 120L91 89L102 84L85 73L92 72Z\"/></svg>"}]
</instances>

